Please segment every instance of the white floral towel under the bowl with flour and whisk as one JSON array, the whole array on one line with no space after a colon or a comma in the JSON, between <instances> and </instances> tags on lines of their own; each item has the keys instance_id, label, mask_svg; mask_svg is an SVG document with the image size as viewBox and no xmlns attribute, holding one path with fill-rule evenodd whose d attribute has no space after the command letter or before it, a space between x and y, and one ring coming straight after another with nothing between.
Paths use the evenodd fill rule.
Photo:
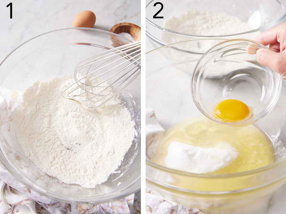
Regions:
<instances>
[{"instance_id":1,"label":"white floral towel under the bowl with flour and whisk","mask_svg":"<svg viewBox=\"0 0 286 214\"><path fill-rule=\"evenodd\" d=\"M140 214L135 194L110 203L68 204L40 196L15 180L0 164L0 213L4 214Z\"/></svg>"}]
</instances>

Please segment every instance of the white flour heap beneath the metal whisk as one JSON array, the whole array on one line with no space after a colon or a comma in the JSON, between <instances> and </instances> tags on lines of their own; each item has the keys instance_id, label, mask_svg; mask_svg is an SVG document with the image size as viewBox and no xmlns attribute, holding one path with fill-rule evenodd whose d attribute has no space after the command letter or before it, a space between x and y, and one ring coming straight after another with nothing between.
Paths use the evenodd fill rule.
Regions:
<instances>
[{"instance_id":1,"label":"white flour heap beneath the metal whisk","mask_svg":"<svg viewBox=\"0 0 286 214\"><path fill-rule=\"evenodd\" d=\"M134 121L118 98L89 111L62 97L72 77L35 82L13 112L25 155L65 183L94 187L121 164L134 138Z\"/></svg>"}]
</instances>

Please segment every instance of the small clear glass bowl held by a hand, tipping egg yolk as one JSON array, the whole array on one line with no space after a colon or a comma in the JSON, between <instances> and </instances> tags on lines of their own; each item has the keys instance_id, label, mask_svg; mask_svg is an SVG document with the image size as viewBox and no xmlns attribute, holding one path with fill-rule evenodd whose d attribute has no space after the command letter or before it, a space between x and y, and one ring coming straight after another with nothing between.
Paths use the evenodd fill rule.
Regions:
<instances>
[{"instance_id":1,"label":"small clear glass bowl held by a hand, tipping egg yolk","mask_svg":"<svg viewBox=\"0 0 286 214\"><path fill-rule=\"evenodd\" d=\"M282 78L259 64L253 53L265 46L248 39L223 41L198 60L191 79L191 92L197 108L213 121L245 126L263 118L276 104ZM238 122L225 122L215 117L215 106L222 100L241 100L253 116Z\"/></svg>"}]
</instances>

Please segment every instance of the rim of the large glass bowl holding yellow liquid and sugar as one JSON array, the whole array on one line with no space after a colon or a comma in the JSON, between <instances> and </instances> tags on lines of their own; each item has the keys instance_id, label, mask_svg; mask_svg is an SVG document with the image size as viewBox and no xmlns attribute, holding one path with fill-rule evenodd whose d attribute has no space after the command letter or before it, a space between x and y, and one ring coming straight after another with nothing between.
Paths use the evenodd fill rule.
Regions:
<instances>
[{"instance_id":1,"label":"rim of the large glass bowl holding yellow liquid and sugar","mask_svg":"<svg viewBox=\"0 0 286 214\"><path fill-rule=\"evenodd\" d=\"M147 57L148 57L147 54L150 54L152 52L158 51L160 49L163 49L163 48L166 48L166 47L172 47L172 46L175 46L175 45L181 44L181 43L194 42L194 41L205 41L205 40L221 40L221 41L227 42L227 41L230 41L230 40L233 40L233 39L201 38L201 39L190 39L190 40L187 40L187 41L176 42L176 43L164 45L164 46L158 47L156 49L153 49L151 51L148 51L146 53L146 60L147 60ZM243 40L243 39L234 39L234 40ZM244 39L244 40L248 40L248 39ZM252 41L252 40L248 40L248 41ZM180 51L180 49L178 49L176 47L174 47L174 48ZM282 79L280 79L280 80L282 82ZM217 178L242 177L242 176L246 176L246 175L253 175L253 174L256 174L256 173L263 172L263 171L268 171L269 169L277 168L277 167L279 167L282 164L286 165L286 159L280 160L280 161L276 161L274 163L271 163L269 165L266 165L264 167L260 167L260 168L257 168L257 169L252 169L252 170L243 171L243 172L237 172L237 173L228 173L228 174L190 173L190 172L180 171L180 170L177 170L177 169L171 169L171 168L162 166L160 164L157 164L157 163L154 163L153 161L148 160L148 158L146 158L146 164L149 165L150 167L154 167L156 169L159 169L159 170L162 170L162 171L166 171L166 172L170 172L170 173L174 173L174 174L177 174L177 175L183 175L183 176L188 176L188 177L196 177L196 178L204 178L204 179L217 179ZM146 179L147 180L149 179L149 178L147 178L147 173L146 173ZM168 187L168 188L170 188L170 187ZM174 187L172 187L172 188L174 188ZM198 193L198 192L196 192L196 193ZM208 192L208 194L210 194L210 192Z\"/></svg>"}]
</instances>

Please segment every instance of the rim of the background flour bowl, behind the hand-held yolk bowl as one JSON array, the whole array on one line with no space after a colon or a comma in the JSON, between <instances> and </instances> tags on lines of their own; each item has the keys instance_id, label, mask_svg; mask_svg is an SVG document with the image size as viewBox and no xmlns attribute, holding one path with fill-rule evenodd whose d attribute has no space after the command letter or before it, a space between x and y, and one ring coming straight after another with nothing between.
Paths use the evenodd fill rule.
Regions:
<instances>
[{"instance_id":1,"label":"rim of the background flour bowl, behind the hand-held yolk bowl","mask_svg":"<svg viewBox=\"0 0 286 214\"><path fill-rule=\"evenodd\" d=\"M155 0L151 0L149 3L146 4L146 7L145 7L146 10L147 10L147 7L151 4L152 1L155 1ZM277 1L277 0L276 0L276 2L279 3L280 5L282 5L282 3L281 3L280 1ZM275 20L275 21L273 21L273 22L271 22L271 23L269 23L269 24L267 24L267 25L264 25L263 27L259 27L259 28L253 29L253 30L251 30L251 31L245 31L245 32L235 33L235 34L227 34L227 35L210 35L210 36L194 35L194 34L187 34L187 33L180 33L180 32L177 32L177 31L172 31L172 30L170 30L170 29L167 29L167 28L164 28L164 27L161 27L161 26L155 24L154 22L152 22L152 21L151 21L150 19L148 19L147 17L146 17L146 22L149 23L150 25L152 25L152 26L154 26L154 27L156 27L156 28L162 30L162 31L166 31L166 32L170 32L170 33L174 33L174 34L178 34L178 35L193 36L193 37L207 37L207 38L213 38L213 37L231 37L231 36L243 35L243 34L246 34L246 33L253 33L253 32L256 32L256 31L263 30L263 29L267 29L268 27L274 25L275 23L278 23L278 22L282 21L285 17L286 17L286 12L283 13L283 15L282 15L279 19L277 19L277 20ZM148 34L149 36L152 36L147 30L146 30L146 34ZM153 37L154 37L154 36L152 36L152 39L155 38L155 37L154 37L154 38L153 38ZM160 41L160 40L157 39L157 38L156 38L155 40L156 40L157 42L161 42L161 43L162 43L162 41Z\"/></svg>"}]
</instances>

